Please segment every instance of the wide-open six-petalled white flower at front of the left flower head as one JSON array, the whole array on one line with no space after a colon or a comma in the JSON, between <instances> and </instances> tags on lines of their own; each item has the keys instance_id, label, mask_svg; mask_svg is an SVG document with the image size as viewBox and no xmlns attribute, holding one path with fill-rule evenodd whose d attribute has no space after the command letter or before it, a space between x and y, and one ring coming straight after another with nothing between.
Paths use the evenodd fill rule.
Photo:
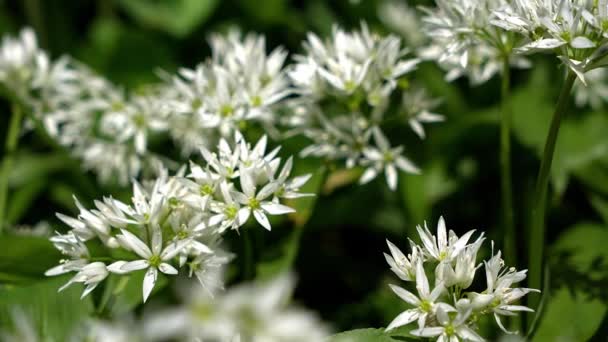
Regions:
<instances>
[{"instance_id":1,"label":"wide-open six-petalled white flower at front of the left flower head","mask_svg":"<svg viewBox=\"0 0 608 342\"><path fill-rule=\"evenodd\" d=\"M171 261L171 259L173 259L173 257L175 257L181 251L181 249L186 246L189 240L171 242L163 249L160 227L152 227L152 248L150 248L128 230L123 229L121 232L122 233L117 236L120 244L124 248L133 251L142 259L129 261L126 263L119 261L108 266L108 269L111 272L116 273L147 269L143 283L143 298L145 302L156 284L158 271L168 275L175 275L178 273L175 267L171 266L171 264L168 262Z\"/></svg>"}]
</instances>

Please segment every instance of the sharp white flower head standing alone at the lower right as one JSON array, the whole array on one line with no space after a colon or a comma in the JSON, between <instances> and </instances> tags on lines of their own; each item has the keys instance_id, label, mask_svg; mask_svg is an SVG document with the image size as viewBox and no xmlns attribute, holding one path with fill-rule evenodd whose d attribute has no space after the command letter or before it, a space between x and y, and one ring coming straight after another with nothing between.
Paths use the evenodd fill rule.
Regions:
<instances>
[{"instance_id":1,"label":"sharp white flower head standing alone at the lower right","mask_svg":"<svg viewBox=\"0 0 608 342\"><path fill-rule=\"evenodd\" d=\"M501 253L478 263L477 252L485 238L483 233L469 242L474 230L461 237L446 231L445 221L439 219L437 236L428 228L417 227L422 245L410 240L411 253L403 254L387 241L391 255L385 254L391 270L403 281L411 283L416 292L390 285L397 296L408 304L387 330L416 322L412 334L438 341L484 341L476 332L476 322L482 316L493 315L498 326L507 333L501 316L515 316L532 309L514 304L535 289L513 287L526 278L526 270L505 267ZM493 244L492 244L493 246ZM477 269L485 270L486 288L475 292L472 288ZM429 279L433 280L431 288Z\"/></svg>"}]
</instances>

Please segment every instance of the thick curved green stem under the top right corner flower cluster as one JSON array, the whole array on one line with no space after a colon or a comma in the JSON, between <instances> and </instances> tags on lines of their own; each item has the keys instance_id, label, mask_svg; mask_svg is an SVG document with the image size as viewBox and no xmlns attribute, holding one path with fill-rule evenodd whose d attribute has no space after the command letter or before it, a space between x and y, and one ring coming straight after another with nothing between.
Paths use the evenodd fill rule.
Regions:
<instances>
[{"instance_id":1,"label":"thick curved green stem under the top right corner flower cluster","mask_svg":"<svg viewBox=\"0 0 608 342\"><path fill-rule=\"evenodd\" d=\"M542 275L543 275L543 260L544 260L544 245L545 245L545 207L547 203L547 188L549 185L549 175L551 171L551 163L553 161L553 154L555 152L555 144L557 142L557 136L559 133L559 127L562 116L565 114L568 100L570 98L570 91L576 80L576 75L572 72L568 72L566 81L562 86L561 93L557 100L557 106L553 113L553 119L551 120L551 126L549 128L549 134L545 142L545 151L540 164L540 170L538 172L538 178L536 180L535 190L535 202L534 209L532 211L532 226L530 230L530 245L529 251L530 256L528 260L529 269L529 287L540 289L542 288ZM532 309L536 309L538 306L539 298L530 297L529 305ZM530 315L532 316L532 315ZM531 320L532 317L529 317Z\"/></svg>"}]
</instances>

